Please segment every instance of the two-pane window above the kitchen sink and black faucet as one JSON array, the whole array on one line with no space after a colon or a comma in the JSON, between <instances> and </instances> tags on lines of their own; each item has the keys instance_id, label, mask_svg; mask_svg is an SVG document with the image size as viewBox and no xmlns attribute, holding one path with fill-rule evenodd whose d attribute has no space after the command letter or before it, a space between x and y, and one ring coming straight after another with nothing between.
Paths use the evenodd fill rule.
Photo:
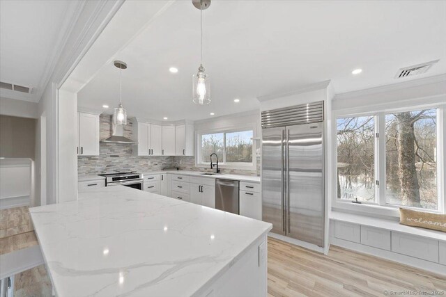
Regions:
<instances>
[{"instance_id":1,"label":"two-pane window above the kitchen sink and black faucet","mask_svg":"<svg viewBox=\"0 0 446 297\"><path fill-rule=\"evenodd\" d=\"M215 153L219 164L252 166L252 137L253 130L201 134L199 135L201 147L198 163L210 163L210 154Z\"/></svg>"}]
</instances>

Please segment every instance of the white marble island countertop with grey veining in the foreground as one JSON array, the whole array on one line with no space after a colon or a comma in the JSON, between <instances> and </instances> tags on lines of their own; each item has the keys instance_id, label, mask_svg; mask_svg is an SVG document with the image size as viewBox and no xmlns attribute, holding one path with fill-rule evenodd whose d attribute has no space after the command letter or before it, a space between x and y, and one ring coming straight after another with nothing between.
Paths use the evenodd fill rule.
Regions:
<instances>
[{"instance_id":1,"label":"white marble island countertop with grey veining in the foreground","mask_svg":"<svg viewBox=\"0 0 446 297\"><path fill-rule=\"evenodd\" d=\"M125 186L29 211L58 296L191 296L272 227Z\"/></svg>"}]
</instances>

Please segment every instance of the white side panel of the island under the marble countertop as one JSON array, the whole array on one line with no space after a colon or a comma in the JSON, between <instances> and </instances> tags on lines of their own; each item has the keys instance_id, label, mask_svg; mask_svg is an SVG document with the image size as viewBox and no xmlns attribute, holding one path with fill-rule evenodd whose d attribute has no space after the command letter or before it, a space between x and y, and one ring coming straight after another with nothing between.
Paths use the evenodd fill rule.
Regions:
<instances>
[{"instance_id":1,"label":"white side panel of the island under the marble countertop","mask_svg":"<svg viewBox=\"0 0 446 297\"><path fill-rule=\"evenodd\" d=\"M212 284L195 294L200 297L268 295L268 239L263 234L254 245Z\"/></svg>"}]
</instances>

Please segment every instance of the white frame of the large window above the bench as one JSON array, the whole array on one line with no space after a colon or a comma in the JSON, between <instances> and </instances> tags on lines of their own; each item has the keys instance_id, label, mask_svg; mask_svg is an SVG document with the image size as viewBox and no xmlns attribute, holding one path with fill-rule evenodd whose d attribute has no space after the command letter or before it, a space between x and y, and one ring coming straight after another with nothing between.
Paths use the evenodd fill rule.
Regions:
<instances>
[{"instance_id":1,"label":"white frame of the large window above the bench","mask_svg":"<svg viewBox=\"0 0 446 297\"><path fill-rule=\"evenodd\" d=\"M408 207L397 204L387 204L385 197L385 171L386 171L386 142L385 142L385 115L389 113L399 113L404 111L420 111L425 109L436 109L436 136L437 136L437 209L422 209L420 207ZM332 125L332 150L333 150L333 163L332 163L332 207L336 209L344 209L347 211L361 211L364 213L379 215L379 216L394 216L399 217L399 207L407 209L421 210L431 212L435 214L445 214L445 175L446 168L442 164L444 163L445 153L445 113L446 104L426 104L417 106L403 106L395 107L392 109L382 109L378 111L367 111L361 108L351 111L350 113L342 113L342 111L334 111ZM362 202L361 204L352 203L351 200L338 199L337 198L337 120L339 118L353 118L359 116L374 116L375 117L375 133L378 133L378 139L375 138L375 178L379 181L379 186L376 185L375 195L376 203Z\"/></svg>"}]
</instances>

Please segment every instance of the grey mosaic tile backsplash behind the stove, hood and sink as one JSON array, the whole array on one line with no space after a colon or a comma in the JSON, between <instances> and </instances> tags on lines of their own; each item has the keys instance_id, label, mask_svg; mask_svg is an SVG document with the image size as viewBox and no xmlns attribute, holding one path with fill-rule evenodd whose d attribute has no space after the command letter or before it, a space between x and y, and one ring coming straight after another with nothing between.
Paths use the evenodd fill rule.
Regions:
<instances>
[{"instance_id":1,"label":"grey mosaic tile backsplash behind the stove, hood and sink","mask_svg":"<svg viewBox=\"0 0 446 297\"><path fill-rule=\"evenodd\" d=\"M132 138L132 122L123 129L123 136ZM110 115L100 115L100 140L110 136ZM97 175L112 172L150 172L164 167L178 167L181 170L211 171L210 168L194 166L194 156L134 156L133 145L121 143L100 143L99 156L78 156L77 172L79 175ZM260 175L260 158L257 157L257 170L223 169L223 173L239 175Z\"/></svg>"}]
</instances>

